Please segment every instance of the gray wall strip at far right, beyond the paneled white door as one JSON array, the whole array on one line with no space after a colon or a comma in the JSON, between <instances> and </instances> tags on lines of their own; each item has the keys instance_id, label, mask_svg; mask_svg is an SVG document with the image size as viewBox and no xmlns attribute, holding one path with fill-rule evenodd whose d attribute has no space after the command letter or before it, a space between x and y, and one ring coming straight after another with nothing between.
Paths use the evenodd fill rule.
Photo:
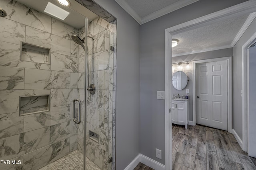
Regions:
<instances>
[{"instance_id":1,"label":"gray wall strip at far right, beyond the paneled white door","mask_svg":"<svg viewBox=\"0 0 256 170\"><path fill-rule=\"evenodd\" d=\"M256 32L256 19L252 21L248 29L233 48L233 129L242 139L242 45ZM243 139L242 139L243 140Z\"/></svg>"}]
</instances>

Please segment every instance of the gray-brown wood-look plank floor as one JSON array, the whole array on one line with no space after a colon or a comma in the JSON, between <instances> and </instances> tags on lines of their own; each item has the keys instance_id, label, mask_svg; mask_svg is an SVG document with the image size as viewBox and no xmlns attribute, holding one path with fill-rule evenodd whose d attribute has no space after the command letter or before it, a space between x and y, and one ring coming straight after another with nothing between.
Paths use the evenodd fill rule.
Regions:
<instances>
[{"instance_id":1,"label":"gray-brown wood-look plank floor","mask_svg":"<svg viewBox=\"0 0 256 170\"><path fill-rule=\"evenodd\" d=\"M172 125L172 170L256 170L233 134L204 127ZM154 170L139 163L134 170Z\"/></svg>"}]
</instances>

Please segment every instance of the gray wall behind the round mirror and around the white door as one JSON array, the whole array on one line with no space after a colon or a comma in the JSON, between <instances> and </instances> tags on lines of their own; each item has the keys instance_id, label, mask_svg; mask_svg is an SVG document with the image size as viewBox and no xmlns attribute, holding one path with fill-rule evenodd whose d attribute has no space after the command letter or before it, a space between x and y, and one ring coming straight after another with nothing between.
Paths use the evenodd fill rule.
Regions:
<instances>
[{"instance_id":1,"label":"gray wall behind the round mirror and around the white door","mask_svg":"<svg viewBox=\"0 0 256 170\"><path fill-rule=\"evenodd\" d=\"M186 89L189 89L188 96L190 97L190 100L189 100L189 120L190 121L193 121L193 61L214 59L214 58L221 58L221 57L230 57L230 56L233 56L233 48L172 57L172 63L179 63L179 62L190 63L189 69L186 68L186 64L182 64L182 68L184 68L182 71L186 73L189 79L187 86L183 90L176 90L172 86L172 94L186 95Z\"/></svg>"}]
</instances>

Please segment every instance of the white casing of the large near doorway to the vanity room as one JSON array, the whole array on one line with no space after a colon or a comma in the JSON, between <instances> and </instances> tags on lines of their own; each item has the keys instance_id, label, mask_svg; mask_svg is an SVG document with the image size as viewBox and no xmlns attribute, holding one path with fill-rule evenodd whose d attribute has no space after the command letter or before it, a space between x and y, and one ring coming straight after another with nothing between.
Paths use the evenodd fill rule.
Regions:
<instances>
[{"instance_id":1,"label":"white casing of the large near doorway to the vanity room","mask_svg":"<svg viewBox=\"0 0 256 170\"><path fill-rule=\"evenodd\" d=\"M171 102L171 70L172 70L172 48L171 39L172 35L188 31L197 27L208 25L218 20L227 19L230 17L255 12L256 1L248 0L241 4L231 6L224 10L196 18L191 21L175 25L173 27L165 29L165 169L172 169L172 121L171 114L169 112ZM242 36L242 35L241 35ZM237 39L238 41L238 39ZM235 42L234 42L235 43Z\"/></svg>"}]
</instances>

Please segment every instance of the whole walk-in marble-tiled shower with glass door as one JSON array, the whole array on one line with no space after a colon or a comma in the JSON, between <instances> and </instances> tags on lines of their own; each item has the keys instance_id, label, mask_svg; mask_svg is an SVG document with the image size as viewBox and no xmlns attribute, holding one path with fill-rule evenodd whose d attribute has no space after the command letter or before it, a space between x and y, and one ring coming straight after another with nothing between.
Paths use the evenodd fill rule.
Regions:
<instances>
[{"instance_id":1,"label":"whole walk-in marble-tiled shower with glass door","mask_svg":"<svg viewBox=\"0 0 256 170\"><path fill-rule=\"evenodd\" d=\"M17 1L0 0L0 160L20 164L0 170L114 170L116 22Z\"/></svg>"}]
</instances>

